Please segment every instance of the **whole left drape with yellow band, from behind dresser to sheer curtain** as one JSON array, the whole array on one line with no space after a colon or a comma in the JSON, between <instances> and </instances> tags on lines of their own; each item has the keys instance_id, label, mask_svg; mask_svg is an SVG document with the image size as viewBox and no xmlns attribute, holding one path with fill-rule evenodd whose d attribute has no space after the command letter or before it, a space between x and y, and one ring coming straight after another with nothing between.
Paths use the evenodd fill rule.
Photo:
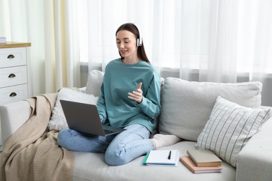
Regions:
<instances>
[{"instance_id":1,"label":"whole left drape with yellow band, from behind dresser to sheer curtain","mask_svg":"<svg viewBox=\"0 0 272 181\"><path fill-rule=\"evenodd\" d=\"M0 0L0 36L31 42L33 95L80 86L79 10L72 0Z\"/></svg>"}]
</instances>

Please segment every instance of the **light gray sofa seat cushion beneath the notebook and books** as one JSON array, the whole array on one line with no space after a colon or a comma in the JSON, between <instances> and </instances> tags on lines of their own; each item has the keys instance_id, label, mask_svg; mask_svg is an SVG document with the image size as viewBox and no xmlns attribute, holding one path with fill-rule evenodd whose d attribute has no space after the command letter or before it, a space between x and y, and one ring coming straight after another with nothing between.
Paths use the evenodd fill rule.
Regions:
<instances>
[{"instance_id":1,"label":"light gray sofa seat cushion beneath the notebook and books","mask_svg":"<svg viewBox=\"0 0 272 181\"><path fill-rule=\"evenodd\" d=\"M158 150L179 150L181 156L186 151L196 149L192 141L181 141ZM144 155L121 166L105 164L104 154L93 152L75 152L73 180L235 180L236 169L222 162L222 173L194 174L179 162L178 166L145 166Z\"/></svg>"}]
</instances>

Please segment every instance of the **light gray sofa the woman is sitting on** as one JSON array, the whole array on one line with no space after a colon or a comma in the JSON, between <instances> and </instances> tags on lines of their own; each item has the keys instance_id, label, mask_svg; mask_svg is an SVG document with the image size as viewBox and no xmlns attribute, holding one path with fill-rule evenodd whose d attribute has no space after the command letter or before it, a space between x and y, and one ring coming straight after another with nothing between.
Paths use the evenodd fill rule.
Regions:
<instances>
[{"instance_id":1,"label":"light gray sofa the woman is sitting on","mask_svg":"<svg viewBox=\"0 0 272 181\"><path fill-rule=\"evenodd\" d=\"M99 95L103 72L89 73L86 93ZM82 89L85 91L85 89ZM243 107L261 105L262 84L259 82L215 84L190 82L176 78L162 79L162 112L157 132L175 134L183 141L160 150L195 149L197 138L204 129L218 95ZM29 118L26 101L1 107L3 143ZM246 143L237 157L236 168L222 162L222 173L193 174L179 162L178 166L144 166L144 155L122 166L107 166L104 155L75 152L73 180L271 180L272 179L272 118Z\"/></svg>"}]
</instances>

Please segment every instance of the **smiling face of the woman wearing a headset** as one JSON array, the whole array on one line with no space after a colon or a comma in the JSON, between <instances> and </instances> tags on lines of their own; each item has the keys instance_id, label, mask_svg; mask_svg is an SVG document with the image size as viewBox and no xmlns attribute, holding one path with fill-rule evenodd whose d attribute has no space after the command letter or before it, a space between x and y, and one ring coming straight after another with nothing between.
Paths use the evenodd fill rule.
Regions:
<instances>
[{"instance_id":1,"label":"smiling face of the woman wearing a headset","mask_svg":"<svg viewBox=\"0 0 272 181\"><path fill-rule=\"evenodd\" d=\"M137 58L136 38L130 31L118 31L116 34L116 45L123 58Z\"/></svg>"}]
</instances>

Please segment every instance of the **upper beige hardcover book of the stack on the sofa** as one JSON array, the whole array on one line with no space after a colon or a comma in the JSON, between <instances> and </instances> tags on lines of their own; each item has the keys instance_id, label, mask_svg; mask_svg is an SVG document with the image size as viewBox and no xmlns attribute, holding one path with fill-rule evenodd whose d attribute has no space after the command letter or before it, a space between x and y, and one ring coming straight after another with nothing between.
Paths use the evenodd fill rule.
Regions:
<instances>
[{"instance_id":1,"label":"upper beige hardcover book of the stack on the sofa","mask_svg":"<svg viewBox=\"0 0 272 181\"><path fill-rule=\"evenodd\" d=\"M221 159L211 150L187 150L187 154L197 166L221 166Z\"/></svg>"}]
</instances>

